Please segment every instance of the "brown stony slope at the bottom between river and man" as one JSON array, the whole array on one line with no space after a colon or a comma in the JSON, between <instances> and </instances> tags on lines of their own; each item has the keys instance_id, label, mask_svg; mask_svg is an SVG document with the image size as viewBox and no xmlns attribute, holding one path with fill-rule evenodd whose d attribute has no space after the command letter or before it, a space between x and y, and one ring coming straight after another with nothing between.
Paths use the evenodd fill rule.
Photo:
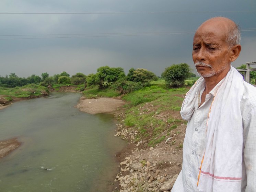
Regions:
<instances>
[{"instance_id":1,"label":"brown stony slope at the bottom between river and man","mask_svg":"<svg viewBox=\"0 0 256 192\"><path fill-rule=\"evenodd\" d=\"M151 105L150 103L146 104ZM153 109L152 109L153 110ZM168 118L170 113L159 114L158 118ZM179 116L179 112L176 114ZM171 191L173 184L182 168L182 147L186 125L180 124L171 130L165 140L154 147L148 146L148 141L136 141L138 131L135 127L124 125L124 113L119 114L121 120L117 124L117 133L128 141L123 152L117 154L120 161L120 172L115 179L115 192L163 192ZM166 129L168 128L168 125ZM162 135L166 135L163 132Z\"/></svg>"}]
</instances>

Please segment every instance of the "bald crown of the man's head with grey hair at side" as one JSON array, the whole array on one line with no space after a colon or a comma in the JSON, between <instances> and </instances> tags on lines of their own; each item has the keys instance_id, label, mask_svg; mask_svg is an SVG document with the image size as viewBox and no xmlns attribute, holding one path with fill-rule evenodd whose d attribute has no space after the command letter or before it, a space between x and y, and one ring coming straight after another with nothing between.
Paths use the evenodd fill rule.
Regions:
<instances>
[{"instance_id":1,"label":"bald crown of the man's head with grey hair at side","mask_svg":"<svg viewBox=\"0 0 256 192\"><path fill-rule=\"evenodd\" d=\"M203 22L197 29L198 31L216 31L219 29L220 33L222 33L223 40L225 40L226 44L231 48L235 45L240 44L241 33L239 27L235 24L234 21L226 18L226 17L213 17L205 22ZM196 32L196 33L197 33Z\"/></svg>"}]
</instances>

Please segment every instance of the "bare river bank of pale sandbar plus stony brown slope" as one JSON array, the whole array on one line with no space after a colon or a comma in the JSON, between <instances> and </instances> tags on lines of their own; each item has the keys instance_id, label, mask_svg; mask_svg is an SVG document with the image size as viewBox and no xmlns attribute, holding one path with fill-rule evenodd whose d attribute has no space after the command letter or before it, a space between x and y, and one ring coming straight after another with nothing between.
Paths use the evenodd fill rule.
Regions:
<instances>
[{"instance_id":1,"label":"bare river bank of pale sandbar plus stony brown slope","mask_svg":"<svg viewBox=\"0 0 256 192\"><path fill-rule=\"evenodd\" d=\"M186 125L181 123L176 129L170 131L171 134L167 134L168 127L166 127L163 134L168 135L168 137L151 147L148 145L148 140L136 140L139 127L136 125L135 127L127 127L125 125L126 114L121 108L124 103L124 101L112 98L85 99L82 97L76 106L81 111L94 114L100 112L118 113L116 118L119 123L117 124L117 133L114 136L126 140L128 145L116 155L119 162L119 172L113 181L113 191L170 191L182 169L182 147ZM146 111L146 109L150 109L154 113L158 107L149 102L140 107L141 112ZM179 111L173 110L157 114L157 118L165 122L170 117L180 117Z\"/></svg>"}]
</instances>

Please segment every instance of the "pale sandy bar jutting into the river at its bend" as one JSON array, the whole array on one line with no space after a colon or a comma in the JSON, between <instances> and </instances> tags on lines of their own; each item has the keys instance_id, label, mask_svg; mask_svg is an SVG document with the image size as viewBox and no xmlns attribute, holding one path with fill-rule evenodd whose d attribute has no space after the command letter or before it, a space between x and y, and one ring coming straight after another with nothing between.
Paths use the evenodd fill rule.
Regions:
<instances>
[{"instance_id":1,"label":"pale sandy bar jutting into the river at its bend","mask_svg":"<svg viewBox=\"0 0 256 192\"><path fill-rule=\"evenodd\" d=\"M120 99L113 99L108 97L102 97L97 99L85 99L80 98L80 101L75 106L80 109L80 111L86 113L114 113L119 107L125 104L124 101Z\"/></svg>"}]
</instances>

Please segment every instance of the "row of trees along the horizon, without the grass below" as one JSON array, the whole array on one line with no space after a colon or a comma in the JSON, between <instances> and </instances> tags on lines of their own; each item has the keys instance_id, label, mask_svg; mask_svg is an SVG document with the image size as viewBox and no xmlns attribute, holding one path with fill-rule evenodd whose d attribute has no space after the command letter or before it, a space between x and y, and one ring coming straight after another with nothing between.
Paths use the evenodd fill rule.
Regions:
<instances>
[{"instance_id":1,"label":"row of trees along the horizon, without the grass below","mask_svg":"<svg viewBox=\"0 0 256 192\"><path fill-rule=\"evenodd\" d=\"M162 78L166 82L167 87L183 86L185 79L196 76L191 73L191 68L186 63L173 64L167 67L162 73ZM73 84L87 86L98 86L100 89L108 88L110 86L118 89L120 92L129 92L130 89L138 89L148 86L152 80L158 80L158 77L147 69L131 68L126 75L123 68L104 66L97 69L95 74L85 75L83 73L76 73L72 76L66 71L60 74L49 76L47 72L42 73L41 76L31 75L27 78L18 77L15 73L0 76L1 87L16 87L35 83L42 86L51 87L53 84ZM130 90L132 91L132 90Z\"/></svg>"}]
</instances>

